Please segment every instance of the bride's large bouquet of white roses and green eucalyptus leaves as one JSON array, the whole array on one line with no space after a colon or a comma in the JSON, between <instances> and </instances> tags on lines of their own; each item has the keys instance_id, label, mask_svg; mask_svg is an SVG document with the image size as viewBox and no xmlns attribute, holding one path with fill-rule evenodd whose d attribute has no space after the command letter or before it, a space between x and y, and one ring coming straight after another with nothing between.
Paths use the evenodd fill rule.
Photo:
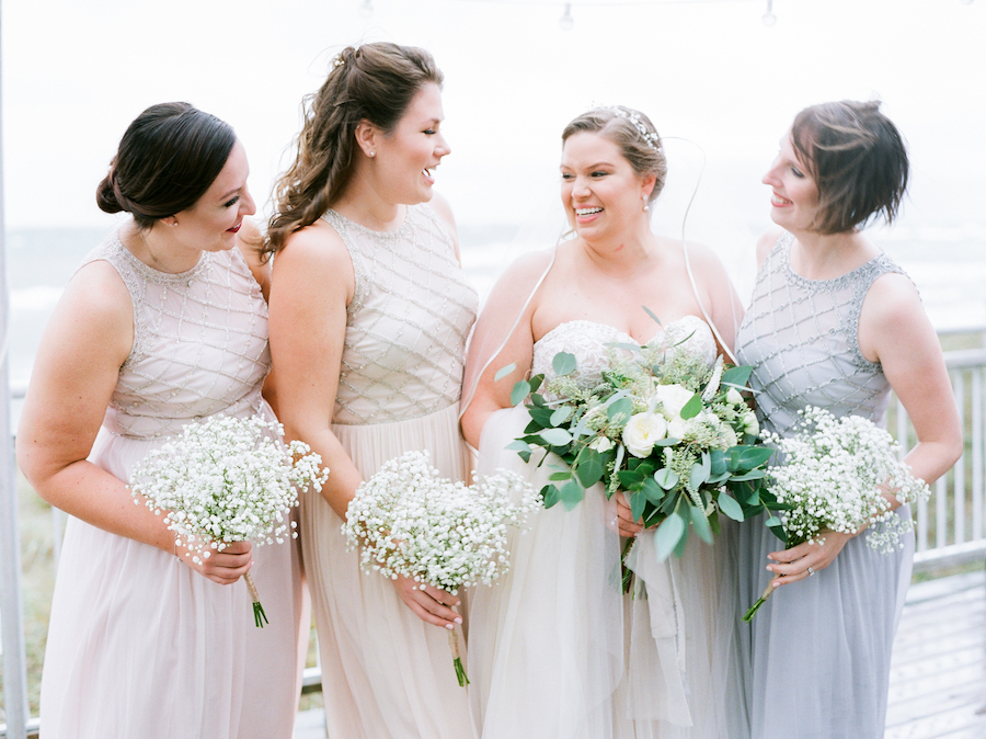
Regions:
<instances>
[{"instance_id":1,"label":"bride's large bouquet of white roses and green eucalyptus leaves","mask_svg":"<svg viewBox=\"0 0 986 739\"><path fill-rule=\"evenodd\" d=\"M591 387L572 378L572 354L557 354L552 368L547 383L535 375L512 395L527 402L530 423L509 448L525 461L541 448L564 462L541 490L546 507L572 508L600 481L607 497L623 490L635 520L660 524L665 559L680 556L689 528L711 544L720 511L743 521L772 503L763 485L772 450L756 444L742 395L749 367L726 367L721 356L709 366L678 343L616 344Z\"/></svg>"}]
</instances>

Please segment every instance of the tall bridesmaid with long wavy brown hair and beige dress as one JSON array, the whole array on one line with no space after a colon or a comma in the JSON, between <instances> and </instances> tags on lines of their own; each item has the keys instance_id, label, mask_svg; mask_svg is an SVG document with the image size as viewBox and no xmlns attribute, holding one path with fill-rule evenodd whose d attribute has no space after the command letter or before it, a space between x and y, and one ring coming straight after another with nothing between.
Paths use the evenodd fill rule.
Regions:
<instances>
[{"instance_id":1,"label":"tall bridesmaid with long wavy brown hair and beige dress","mask_svg":"<svg viewBox=\"0 0 986 739\"><path fill-rule=\"evenodd\" d=\"M287 434L332 470L302 502L329 735L473 736L446 629L459 600L359 569L341 524L362 480L409 450L466 479L458 431L477 295L448 205L442 72L419 48L346 48L309 99L268 229L272 387Z\"/></svg>"}]
</instances>

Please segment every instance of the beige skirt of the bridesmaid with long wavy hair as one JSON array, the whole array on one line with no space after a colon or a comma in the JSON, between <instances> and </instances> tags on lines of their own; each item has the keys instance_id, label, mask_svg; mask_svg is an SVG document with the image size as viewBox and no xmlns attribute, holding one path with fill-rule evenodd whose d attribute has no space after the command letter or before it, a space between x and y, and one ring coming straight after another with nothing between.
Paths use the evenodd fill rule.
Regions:
<instances>
[{"instance_id":1,"label":"beige skirt of the bridesmaid with long wavy hair","mask_svg":"<svg viewBox=\"0 0 986 739\"><path fill-rule=\"evenodd\" d=\"M458 406L399 423L332 427L364 478L411 450L428 450L444 477L467 479L469 453ZM390 580L359 568L342 521L320 496L302 501L301 541L311 589L330 737L469 739L467 691L448 633L421 621ZM461 593L460 593L461 595ZM465 655L463 635L459 648Z\"/></svg>"}]
</instances>

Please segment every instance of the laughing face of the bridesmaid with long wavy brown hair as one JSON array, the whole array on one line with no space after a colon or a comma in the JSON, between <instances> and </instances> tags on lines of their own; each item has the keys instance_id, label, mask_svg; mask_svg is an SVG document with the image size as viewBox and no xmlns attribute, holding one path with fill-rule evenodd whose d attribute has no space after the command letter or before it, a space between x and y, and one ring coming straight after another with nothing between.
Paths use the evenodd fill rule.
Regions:
<instances>
[{"instance_id":1,"label":"laughing face of the bridesmaid with long wavy brown hair","mask_svg":"<svg viewBox=\"0 0 986 739\"><path fill-rule=\"evenodd\" d=\"M434 169L451 151L439 129L444 118L442 90L428 82L394 129L375 137L379 181L391 191L393 202L414 205L432 200Z\"/></svg>"}]
</instances>

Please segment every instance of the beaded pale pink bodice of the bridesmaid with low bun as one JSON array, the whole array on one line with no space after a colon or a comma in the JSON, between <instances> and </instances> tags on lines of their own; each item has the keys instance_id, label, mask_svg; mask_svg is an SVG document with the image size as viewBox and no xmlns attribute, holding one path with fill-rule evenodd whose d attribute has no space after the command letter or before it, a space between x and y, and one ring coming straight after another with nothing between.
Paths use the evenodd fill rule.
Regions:
<instances>
[{"instance_id":1,"label":"beaded pale pink bodice of the bridesmaid with low bun","mask_svg":"<svg viewBox=\"0 0 986 739\"><path fill-rule=\"evenodd\" d=\"M114 234L83 264L96 260L116 269L134 304L134 345L104 429L152 439L197 418L260 409L271 368L267 304L239 249L204 252L188 272L168 274L134 257Z\"/></svg>"}]
</instances>

